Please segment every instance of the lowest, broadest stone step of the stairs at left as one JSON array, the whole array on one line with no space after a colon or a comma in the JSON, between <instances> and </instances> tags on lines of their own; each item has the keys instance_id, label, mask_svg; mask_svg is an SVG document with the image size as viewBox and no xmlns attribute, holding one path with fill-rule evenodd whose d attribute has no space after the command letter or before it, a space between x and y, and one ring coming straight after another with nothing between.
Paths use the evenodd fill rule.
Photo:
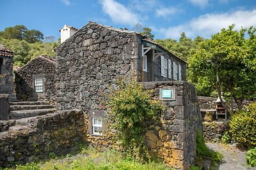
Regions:
<instances>
[{"instance_id":1,"label":"lowest, broadest stone step of the stairs at left","mask_svg":"<svg viewBox=\"0 0 256 170\"><path fill-rule=\"evenodd\" d=\"M17 110L17 111L11 111L10 113L10 119L20 119L20 118L26 118L26 117L36 117L40 115L46 115L47 113L53 113L56 111L55 108L51 109L42 109L42 110Z\"/></svg>"}]
</instances>

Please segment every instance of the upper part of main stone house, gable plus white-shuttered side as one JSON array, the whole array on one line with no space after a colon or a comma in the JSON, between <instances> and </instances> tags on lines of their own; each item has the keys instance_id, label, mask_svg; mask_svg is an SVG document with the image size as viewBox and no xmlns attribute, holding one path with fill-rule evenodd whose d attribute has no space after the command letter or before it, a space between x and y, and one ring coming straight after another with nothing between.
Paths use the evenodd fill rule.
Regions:
<instances>
[{"instance_id":1,"label":"upper part of main stone house, gable plus white-shuttered side","mask_svg":"<svg viewBox=\"0 0 256 170\"><path fill-rule=\"evenodd\" d=\"M140 33L89 22L57 46L56 106L59 110L102 107L116 79L186 81L186 62Z\"/></svg>"}]
</instances>

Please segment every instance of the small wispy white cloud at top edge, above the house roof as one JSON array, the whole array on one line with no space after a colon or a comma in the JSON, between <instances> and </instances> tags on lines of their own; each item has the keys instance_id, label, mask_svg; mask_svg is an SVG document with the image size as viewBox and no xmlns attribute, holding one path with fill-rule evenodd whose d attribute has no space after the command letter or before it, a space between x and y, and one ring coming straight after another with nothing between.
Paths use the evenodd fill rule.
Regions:
<instances>
[{"instance_id":1,"label":"small wispy white cloud at top edge, above the house roof","mask_svg":"<svg viewBox=\"0 0 256 170\"><path fill-rule=\"evenodd\" d=\"M135 13L132 13L129 8L115 0L100 0L100 4L102 4L102 9L113 22L129 25L135 25L140 22L139 17Z\"/></svg>"}]
</instances>

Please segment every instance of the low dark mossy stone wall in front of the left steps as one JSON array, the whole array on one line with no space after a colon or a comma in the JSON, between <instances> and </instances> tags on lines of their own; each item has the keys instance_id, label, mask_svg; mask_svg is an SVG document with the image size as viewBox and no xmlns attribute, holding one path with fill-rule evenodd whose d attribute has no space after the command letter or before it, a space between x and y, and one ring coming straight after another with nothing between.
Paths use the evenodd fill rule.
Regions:
<instances>
[{"instance_id":1,"label":"low dark mossy stone wall in front of the left steps","mask_svg":"<svg viewBox=\"0 0 256 170\"><path fill-rule=\"evenodd\" d=\"M67 110L36 117L27 129L1 132L0 167L75 152L84 141L84 126L82 111Z\"/></svg>"}]
</instances>

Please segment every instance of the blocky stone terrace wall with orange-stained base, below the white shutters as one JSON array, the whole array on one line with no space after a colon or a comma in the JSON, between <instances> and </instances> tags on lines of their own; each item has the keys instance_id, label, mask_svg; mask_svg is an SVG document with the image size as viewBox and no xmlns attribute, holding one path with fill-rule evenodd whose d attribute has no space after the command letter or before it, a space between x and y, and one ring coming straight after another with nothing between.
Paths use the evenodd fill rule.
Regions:
<instances>
[{"instance_id":1,"label":"blocky stone terrace wall with orange-stained base, below the white shutters","mask_svg":"<svg viewBox=\"0 0 256 170\"><path fill-rule=\"evenodd\" d=\"M149 125L145 141L151 154L175 168L189 169L196 157L196 131L202 132L202 118L194 85L186 81L158 81L143 83L154 89L159 97L162 87L175 87L176 100L164 101L166 111L159 115L159 123Z\"/></svg>"}]
</instances>

